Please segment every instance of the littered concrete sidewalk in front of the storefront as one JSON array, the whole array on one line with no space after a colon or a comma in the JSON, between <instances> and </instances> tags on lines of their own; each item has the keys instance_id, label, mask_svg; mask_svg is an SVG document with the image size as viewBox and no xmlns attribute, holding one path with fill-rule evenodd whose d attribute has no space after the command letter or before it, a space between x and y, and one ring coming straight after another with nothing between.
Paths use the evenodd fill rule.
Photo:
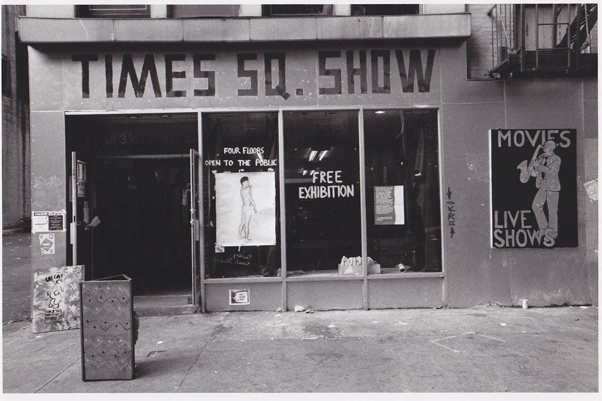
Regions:
<instances>
[{"instance_id":1,"label":"littered concrete sidewalk in front of the storefront","mask_svg":"<svg viewBox=\"0 0 602 401\"><path fill-rule=\"evenodd\" d=\"M598 391L597 307L141 317L131 381L82 382L79 330L3 329L5 393Z\"/></svg>"}]
</instances>

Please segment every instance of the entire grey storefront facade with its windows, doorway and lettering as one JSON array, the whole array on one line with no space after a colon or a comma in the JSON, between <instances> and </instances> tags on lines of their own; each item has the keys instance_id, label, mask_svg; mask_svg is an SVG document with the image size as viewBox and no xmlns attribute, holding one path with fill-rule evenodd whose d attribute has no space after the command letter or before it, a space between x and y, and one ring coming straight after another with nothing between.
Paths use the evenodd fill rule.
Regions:
<instances>
[{"instance_id":1,"label":"entire grey storefront facade with its windows, doorway and lettering","mask_svg":"<svg viewBox=\"0 0 602 401\"><path fill-rule=\"evenodd\" d=\"M208 312L597 302L580 181L597 79L469 81L464 15L424 37L213 43L170 40L181 21L74 43L20 19L32 209L65 216L34 269L126 274ZM506 160L547 141L546 232L535 176Z\"/></svg>"}]
</instances>

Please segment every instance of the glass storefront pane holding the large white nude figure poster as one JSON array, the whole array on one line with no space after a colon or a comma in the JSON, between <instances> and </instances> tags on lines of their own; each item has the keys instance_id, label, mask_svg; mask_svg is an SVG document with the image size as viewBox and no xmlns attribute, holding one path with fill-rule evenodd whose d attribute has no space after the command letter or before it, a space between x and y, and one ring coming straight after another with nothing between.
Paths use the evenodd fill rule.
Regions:
<instances>
[{"instance_id":1,"label":"glass storefront pane holding the large white nude figure poster","mask_svg":"<svg viewBox=\"0 0 602 401\"><path fill-rule=\"evenodd\" d=\"M205 276L281 275L278 113L202 115Z\"/></svg>"}]
</instances>

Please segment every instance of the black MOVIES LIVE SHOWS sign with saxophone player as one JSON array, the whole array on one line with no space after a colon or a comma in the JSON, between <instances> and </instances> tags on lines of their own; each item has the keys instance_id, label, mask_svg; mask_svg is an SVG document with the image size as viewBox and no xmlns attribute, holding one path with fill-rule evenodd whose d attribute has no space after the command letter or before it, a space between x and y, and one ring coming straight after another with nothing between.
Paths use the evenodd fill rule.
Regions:
<instances>
[{"instance_id":1,"label":"black MOVIES LIVE SHOWS sign with saxophone player","mask_svg":"<svg viewBox=\"0 0 602 401\"><path fill-rule=\"evenodd\" d=\"M492 129L494 248L577 246L575 129Z\"/></svg>"}]
</instances>

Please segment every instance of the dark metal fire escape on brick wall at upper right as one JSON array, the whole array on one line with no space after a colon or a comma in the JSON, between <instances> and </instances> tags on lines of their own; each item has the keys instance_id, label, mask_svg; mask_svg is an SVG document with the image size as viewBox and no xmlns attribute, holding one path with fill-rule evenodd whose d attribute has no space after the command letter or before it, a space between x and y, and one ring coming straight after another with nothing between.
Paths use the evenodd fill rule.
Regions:
<instances>
[{"instance_id":1,"label":"dark metal fire escape on brick wall at upper right","mask_svg":"<svg viewBox=\"0 0 602 401\"><path fill-rule=\"evenodd\" d=\"M496 4L487 14L490 76L597 76L597 4Z\"/></svg>"}]
</instances>

